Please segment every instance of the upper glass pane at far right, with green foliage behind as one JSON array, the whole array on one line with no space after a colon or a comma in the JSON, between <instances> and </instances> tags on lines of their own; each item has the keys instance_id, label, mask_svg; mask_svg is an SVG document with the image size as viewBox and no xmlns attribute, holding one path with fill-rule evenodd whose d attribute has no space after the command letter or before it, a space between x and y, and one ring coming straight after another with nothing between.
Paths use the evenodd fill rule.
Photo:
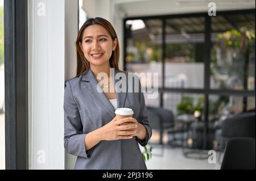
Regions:
<instances>
[{"instance_id":1,"label":"upper glass pane at far right, with green foliage behind","mask_svg":"<svg viewBox=\"0 0 256 181\"><path fill-rule=\"evenodd\" d=\"M254 90L255 14L212 17L210 88Z\"/></svg>"}]
</instances>

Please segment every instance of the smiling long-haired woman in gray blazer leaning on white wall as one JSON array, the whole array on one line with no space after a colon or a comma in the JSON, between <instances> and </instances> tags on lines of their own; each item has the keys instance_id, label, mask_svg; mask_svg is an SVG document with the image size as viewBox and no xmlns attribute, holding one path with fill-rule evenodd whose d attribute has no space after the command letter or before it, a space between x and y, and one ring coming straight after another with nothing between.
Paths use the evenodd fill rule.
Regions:
<instances>
[{"instance_id":1,"label":"smiling long-haired woman in gray blazer leaning on white wall","mask_svg":"<svg viewBox=\"0 0 256 181\"><path fill-rule=\"evenodd\" d=\"M77 156L75 169L147 169L138 146L138 142L145 146L152 134L144 96L141 91L114 89L123 77L114 79L121 71L112 24L102 18L87 20L77 35L76 50L77 77L65 83L64 96L64 145ZM109 80L100 87L102 92L100 73ZM116 120L114 111L121 107L133 109L133 118Z\"/></svg>"}]
</instances>

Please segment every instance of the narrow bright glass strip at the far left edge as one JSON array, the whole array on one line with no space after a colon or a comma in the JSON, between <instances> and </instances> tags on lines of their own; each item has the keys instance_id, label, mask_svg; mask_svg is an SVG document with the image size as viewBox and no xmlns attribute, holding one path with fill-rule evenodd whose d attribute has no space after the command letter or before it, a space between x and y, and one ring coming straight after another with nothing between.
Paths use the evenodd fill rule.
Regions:
<instances>
[{"instance_id":1,"label":"narrow bright glass strip at the far left edge","mask_svg":"<svg viewBox=\"0 0 256 181\"><path fill-rule=\"evenodd\" d=\"M0 170L5 169L5 51L3 0L0 0Z\"/></svg>"}]
</instances>

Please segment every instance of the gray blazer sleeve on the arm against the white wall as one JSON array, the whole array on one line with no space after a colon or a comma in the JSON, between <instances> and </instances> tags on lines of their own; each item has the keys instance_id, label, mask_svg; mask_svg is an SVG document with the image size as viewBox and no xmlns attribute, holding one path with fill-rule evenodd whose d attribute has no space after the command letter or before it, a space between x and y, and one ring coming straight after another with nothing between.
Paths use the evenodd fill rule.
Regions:
<instances>
[{"instance_id":1,"label":"gray blazer sleeve on the arm against the white wall","mask_svg":"<svg viewBox=\"0 0 256 181\"><path fill-rule=\"evenodd\" d=\"M65 83L64 91L64 147L67 153L78 157L89 158L92 149L85 151L85 136L79 109L73 99L70 83Z\"/></svg>"}]
</instances>

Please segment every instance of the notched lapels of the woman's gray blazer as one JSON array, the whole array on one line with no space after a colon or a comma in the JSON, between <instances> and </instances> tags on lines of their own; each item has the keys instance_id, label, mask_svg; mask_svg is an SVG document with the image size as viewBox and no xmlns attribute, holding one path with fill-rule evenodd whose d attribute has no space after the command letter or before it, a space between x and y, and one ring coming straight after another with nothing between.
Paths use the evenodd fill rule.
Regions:
<instances>
[{"instance_id":1,"label":"notched lapels of the woman's gray blazer","mask_svg":"<svg viewBox=\"0 0 256 181\"><path fill-rule=\"evenodd\" d=\"M115 71L115 74L118 71ZM88 69L88 71L82 75L82 81L85 81L84 89L89 93L90 96L113 118L115 117L114 107L110 103L106 94L102 91L101 93L97 91L98 81L94 77L92 70ZM115 79L115 83L117 83L119 79ZM100 87L99 87L100 88ZM101 88L100 88L101 89ZM127 81L126 81L126 92L119 92L119 87L117 87L117 107L123 107L125 105L126 94L128 90Z\"/></svg>"}]
</instances>

